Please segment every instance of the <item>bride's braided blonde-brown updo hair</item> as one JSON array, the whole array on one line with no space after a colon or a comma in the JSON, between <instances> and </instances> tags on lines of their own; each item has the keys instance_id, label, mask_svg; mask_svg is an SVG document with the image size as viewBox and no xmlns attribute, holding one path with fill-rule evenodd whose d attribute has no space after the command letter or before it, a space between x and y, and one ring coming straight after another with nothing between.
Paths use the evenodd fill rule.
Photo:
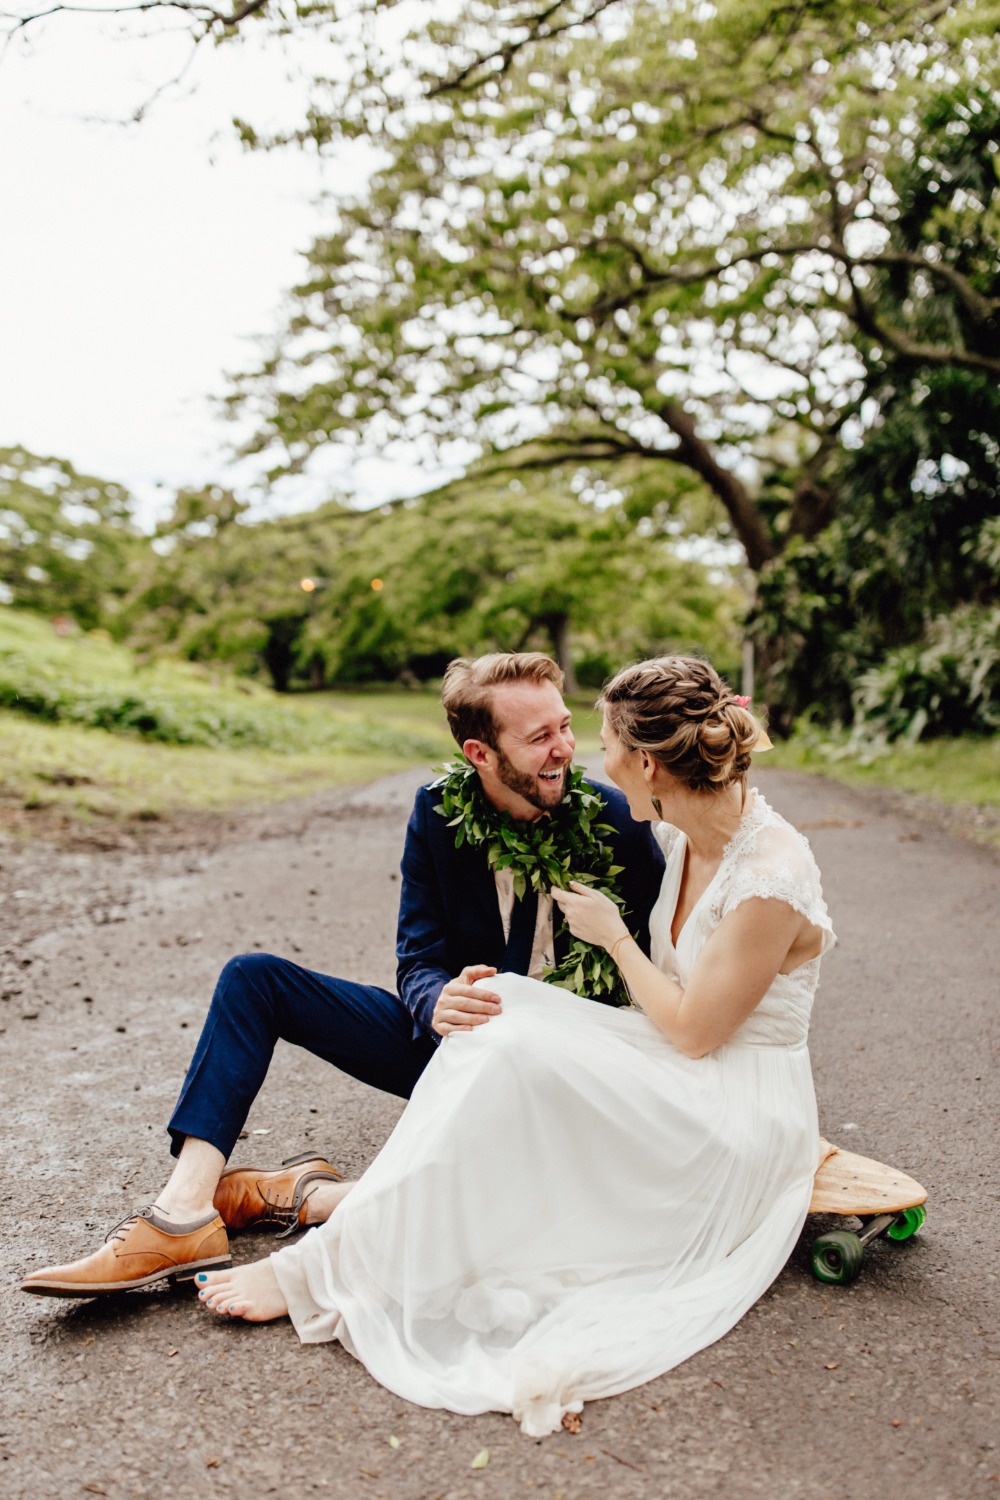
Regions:
<instances>
[{"instance_id":1,"label":"bride's braided blonde-brown updo hair","mask_svg":"<svg viewBox=\"0 0 1000 1500\"><path fill-rule=\"evenodd\" d=\"M628 750L646 750L693 792L718 792L742 780L760 735L750 710L697 657L622 668L598 706Z\"/></svg>"}]
</instances>

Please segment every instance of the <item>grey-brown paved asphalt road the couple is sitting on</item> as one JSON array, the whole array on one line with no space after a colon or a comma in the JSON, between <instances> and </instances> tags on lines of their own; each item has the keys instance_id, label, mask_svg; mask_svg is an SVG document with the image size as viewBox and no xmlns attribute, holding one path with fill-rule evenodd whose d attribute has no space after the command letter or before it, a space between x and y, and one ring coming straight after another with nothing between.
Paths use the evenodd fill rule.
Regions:
<instances>
[{"instance_id":1,"label":"grey-brown paved asphalt road the couple is sitting on","mask_svg":"<svg viewBox=\"0 0 1000 1500\"><path fill-rule=\"evenodd\" d=\"M813 1026L822 1126L930 1191L924 1233L876 1244L853 1287L813 1280L810 1224L727 1338L544 1442L504 1416L411 1407L340 1347L216 1323L190 1292L15 1290L154 1196L226 957L274 950L391 984L417 782L159 854L0 844L0 1492L1000 1500L1000 860L822 780L759 777L808 832L841 939ZM315 1144L355 1173L397 1112L288 1048L235 1160ZM244 1236L237 1257L270 1244Z\"/></svg>"}]
</instances>

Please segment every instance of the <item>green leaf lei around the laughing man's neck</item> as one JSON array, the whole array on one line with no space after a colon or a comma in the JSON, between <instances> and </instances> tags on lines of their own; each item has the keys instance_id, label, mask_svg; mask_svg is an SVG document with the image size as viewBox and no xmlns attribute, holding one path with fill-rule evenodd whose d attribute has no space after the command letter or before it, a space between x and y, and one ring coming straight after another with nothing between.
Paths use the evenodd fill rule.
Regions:
<instances>
[{"instance_id":1,"label":"green leaf lei around the laughing man's neck","mask_svg":"<svg viewBox=\"0 0 1000 1500\"><path fill-rule=\"evenodd\" d=\"M618 906L624 900L615 890L622 872L613 862L610 844L603 834L613 834L610 824L597 822L604 804L583 780L583 772L570 768L567 789L550 818L534 824L519 824L510 813L493 807L472 765L457 756L442 766L444 774L432 782L441 792L435 812L454 828L454 846L486 844L490 870L511 870L514 894L520 900L528 886L546 892L555 885L565 890L570 880L592 885L610 896ZM559 930L565 920L553 903L553 921ZM573 990L604 1005L630 1005L628 990L612 956L595 944L571 938L562 963L546 970L546 980L564 990Z\"/></svg>"}]
</instances>

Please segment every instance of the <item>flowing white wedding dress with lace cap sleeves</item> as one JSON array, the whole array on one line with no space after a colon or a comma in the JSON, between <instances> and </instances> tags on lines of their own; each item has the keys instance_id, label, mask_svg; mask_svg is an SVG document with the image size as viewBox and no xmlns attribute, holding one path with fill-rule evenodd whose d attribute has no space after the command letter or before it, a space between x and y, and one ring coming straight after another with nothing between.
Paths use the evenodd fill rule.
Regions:
<instances>
[{"instance_id":1,"label":"flowing white wedding dress with lace cap sleeves","mask_svg":"<svg viewBox=\"0 0 1000 1500\"><path fill-rule=\"evenodd\" d=\"M805 838L756 794L675 948L687 840L655 832L652 957L682 986L750 897L834 942ZM300 1340L340 1340L408 1401L511 1412L540 1437L721 1338L808 1209L819 964L778 975L700 1059L637 1010L490 980L502 1014L447 1038L343 1204L271 1257Z\"/></svg>"}]
</instances>

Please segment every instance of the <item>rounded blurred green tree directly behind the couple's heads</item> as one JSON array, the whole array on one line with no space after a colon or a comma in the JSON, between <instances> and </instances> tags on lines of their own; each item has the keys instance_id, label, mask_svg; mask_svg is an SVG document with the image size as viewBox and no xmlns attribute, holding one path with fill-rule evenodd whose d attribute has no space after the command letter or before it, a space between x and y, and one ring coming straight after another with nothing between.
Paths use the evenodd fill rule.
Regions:
<instances>
[{"instance_id":1,"label":"rounded blurred green tree directly behind the couple's heads","mask_svg":"<svg viewBox=\"0 0 1000 1500\"><path fill-rule=\"evenodd\" d=\"M303 638L327 680L429 678L459 654L544 650L589 687L636 654L700 650L730 669L738 656L732 585L547 474L469 476L351 532Z\"/></svg>"}]
</instances>

